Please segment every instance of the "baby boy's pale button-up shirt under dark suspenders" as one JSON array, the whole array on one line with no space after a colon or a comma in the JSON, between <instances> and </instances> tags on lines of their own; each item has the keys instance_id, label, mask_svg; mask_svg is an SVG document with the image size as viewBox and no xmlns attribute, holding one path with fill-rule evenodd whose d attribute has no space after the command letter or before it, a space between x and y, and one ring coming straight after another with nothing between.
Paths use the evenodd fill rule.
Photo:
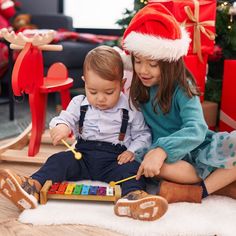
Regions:
<instances>
[{"instance_id":1,"label":"baby boy's pale button-up shirt under dark suspenders","mask_svg":"<svg viewBox=\"0 0 236 236\"><path fill-rule=\"evenodd\" d=\"M83 123L83 132L79 134L80 107L84 105L88 105L88 110ZM124 141L119 141L122 109L128 110L129 121ZM99 110L91 106L83 95L76 96L71 100L67 109L53 118L49 125L52 128L61 123L70 127L76 138L113 144L120 143L133 153L151 145L151 133L145 124L142 113L135 108L130 109L128 99L123 93L121 93L116 106L108 110Z\"/></svg>"}]
</instances>

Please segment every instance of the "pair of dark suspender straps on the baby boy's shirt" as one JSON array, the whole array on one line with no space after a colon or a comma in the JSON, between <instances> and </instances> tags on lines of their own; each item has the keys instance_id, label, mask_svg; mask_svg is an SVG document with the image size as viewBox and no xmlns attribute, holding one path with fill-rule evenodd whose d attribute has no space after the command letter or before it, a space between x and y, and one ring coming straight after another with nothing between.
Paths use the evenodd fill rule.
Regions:
<instances>
[{"instance_id":1,"label":"pair of dark suspender straps on the baby boy's shirt","mask_svg":"<svg viewBox=\"0 0 236 236\"><path fill-rule=\"evenodd\" d=\"M88 110L88 105L81 106L80 107L80 119L79 119L79 133L82 134L83 132L83 124L84 124L84 118L85 114ZM128 127L128 121L129 121L129 112L126 109L122 109L123 116L122 116L122 123L120 127L120 134L119 134L119 141L124 141L125 133Z\"/></svg>"}]
</instances>

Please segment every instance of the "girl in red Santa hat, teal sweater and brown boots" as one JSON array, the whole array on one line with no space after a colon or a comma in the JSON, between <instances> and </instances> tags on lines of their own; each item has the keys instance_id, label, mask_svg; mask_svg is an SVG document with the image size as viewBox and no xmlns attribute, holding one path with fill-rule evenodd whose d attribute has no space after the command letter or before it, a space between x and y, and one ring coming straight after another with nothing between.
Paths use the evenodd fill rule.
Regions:
<instances>
[{"instance_id":1,"label":"girl in red Santa hat, teal sweater and brown boots","mask_svg":"<svg viewBox=\"0 0 236 236\"><path fill-rule=\"evenodd\" d=\"M236 199L236 131L208 130L182 58L189 43L185 29L158 3L141 9L124 33L123 61L134 72L130 101L152 130L137 179L164 179L159 195L169 203L200 203L212 193Z\"/></svg>"}]
</instances>

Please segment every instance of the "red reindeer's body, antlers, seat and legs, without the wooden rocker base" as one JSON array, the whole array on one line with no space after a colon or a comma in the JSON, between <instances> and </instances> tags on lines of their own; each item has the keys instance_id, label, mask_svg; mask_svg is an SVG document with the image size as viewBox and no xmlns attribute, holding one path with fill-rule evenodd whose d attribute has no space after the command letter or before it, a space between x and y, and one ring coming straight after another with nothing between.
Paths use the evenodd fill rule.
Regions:
<instances>
[{"instance_id":1,"label":"red reindeer's body, antlers, seat and legs, without the wooden rocker base","mask_svg":"<svg viewBox=\"0 0 236 236\"><path fill-rule=\"evenodd\" d=\"M73 80L68 78L68 71L64 64L54 63L43 75L42 50L60 51L61 45L49 45L53 40L54 31L46 34L35 34L26 37L22 33L15 34L7 29L0 31L2 37L11 43L11 49L21 50L13 72L12 88L15 96L29 95L29 105L32 116L32 130L28 155L35 156L39 152L41 136L45 128L47 95L51 92L60 92L62 108L70 102L69 88Z\"/></svg>"}]
</instances>

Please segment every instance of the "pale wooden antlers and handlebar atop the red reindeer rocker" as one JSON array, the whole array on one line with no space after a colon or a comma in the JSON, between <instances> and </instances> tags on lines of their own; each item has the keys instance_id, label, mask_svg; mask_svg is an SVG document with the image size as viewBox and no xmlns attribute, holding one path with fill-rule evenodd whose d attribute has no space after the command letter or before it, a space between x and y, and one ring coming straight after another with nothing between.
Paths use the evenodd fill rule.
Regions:
<instances>
[{"instance_id":1,"label":"pale wooden antlers and handlebar atop the red reindeer rocker","mask_svg":"<svg viewBox=\"0 0 236 236\"><path fill-rule=\"evenodd\" d=\"M37 46L41 50L47 51L61 51L61 45L53 45L49 43L53 40L55 31L49 30L43 35L35 34L33 37L26 37L21 32L17 35L14 31L8 32L6 28L1 29L0 35L5 38L8 42L11 43L11 49L22 49L26 43L32 43L34 46Z\"/></svg>"}]
</instances>

